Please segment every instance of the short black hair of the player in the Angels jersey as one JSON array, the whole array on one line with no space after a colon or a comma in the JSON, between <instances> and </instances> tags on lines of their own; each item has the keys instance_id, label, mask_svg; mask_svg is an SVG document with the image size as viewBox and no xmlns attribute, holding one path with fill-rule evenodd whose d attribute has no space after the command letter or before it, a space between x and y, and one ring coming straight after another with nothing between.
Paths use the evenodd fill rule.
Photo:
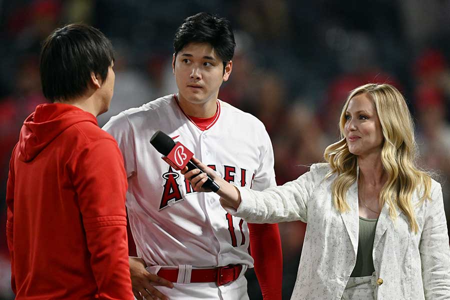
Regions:
<instances>
[{"instance_id":1,"label":"short black hair of the player in the Angels jersey","mask_svg":"<svg viewBox=\"0 0 450 300\"><path fill-rule=\"evenodd\" d=\"M190 42L207 42L223 61L223 71L234 54L234 34L230 22L206 12L186 17L178 27L173 39L176 54Z\"/></svg>"}]
</instances>

